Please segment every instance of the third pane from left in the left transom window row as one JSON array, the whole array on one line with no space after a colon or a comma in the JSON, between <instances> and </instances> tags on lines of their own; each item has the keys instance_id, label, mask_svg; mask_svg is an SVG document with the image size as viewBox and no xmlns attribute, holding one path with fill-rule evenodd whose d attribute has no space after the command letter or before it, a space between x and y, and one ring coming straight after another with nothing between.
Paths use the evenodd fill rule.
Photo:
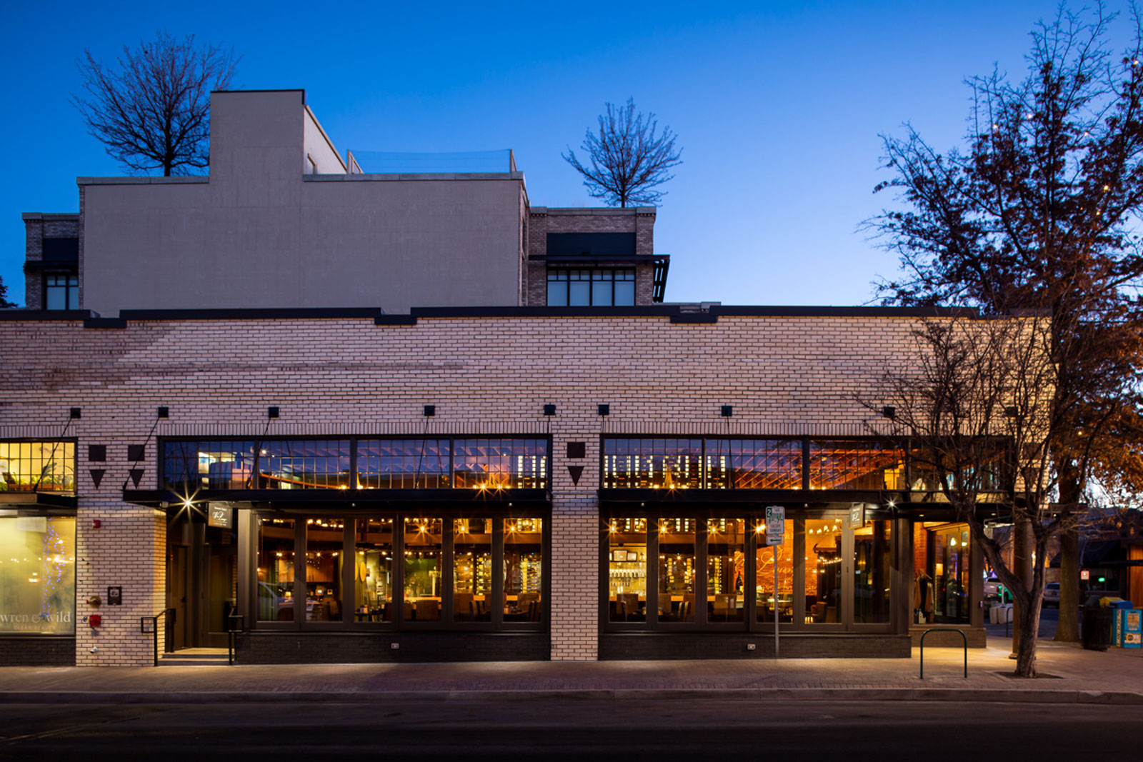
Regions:
<instances>
[{"instance_id":1,"label":"third pane from left in the left transom window row","mask_svg":"<svg viewBox=\"0 0 1143 762\"><path fill-rule=\"evenodd\" d=\"M381 439L358 442L361 489L442 489L449 486L447 439Z\"/></svg>"}]
</instances>

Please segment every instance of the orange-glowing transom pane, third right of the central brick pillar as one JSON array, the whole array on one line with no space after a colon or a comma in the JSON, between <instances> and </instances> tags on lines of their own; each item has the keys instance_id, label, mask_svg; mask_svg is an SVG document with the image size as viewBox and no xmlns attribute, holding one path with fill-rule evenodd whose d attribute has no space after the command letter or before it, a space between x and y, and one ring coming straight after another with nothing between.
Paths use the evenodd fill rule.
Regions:
<instances>
[{"instance_id":1,"label":"orange-glowing transom pane, third right of the central brick pillar","mask_svg":"<svg viewBox=\"0 0 1143 762\"><path fill-rule=\"evenodd\" d=\"M862 440L812 441L810 489L905 489L905 451Z\"/></svg>"}]
</instances>

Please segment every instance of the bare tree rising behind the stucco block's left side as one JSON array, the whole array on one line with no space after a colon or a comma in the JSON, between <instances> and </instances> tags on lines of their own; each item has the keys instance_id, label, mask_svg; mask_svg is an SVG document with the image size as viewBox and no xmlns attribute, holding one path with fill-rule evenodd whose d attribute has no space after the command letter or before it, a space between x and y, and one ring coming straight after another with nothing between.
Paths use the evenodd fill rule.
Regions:
<instances>
[{"instance_id":1,"label":"bare tree rising behind the stucco block's left side","mask_svg":"<svg viewBox=\"0 0 1143 762\"><path fill-rule=\"evenodd\" d=\"M85 48L77 65L87 93L71 102L130 171L186 174L209 163L210 91L230 87L237 64L232 49L195 46L193 34L160 32L134 50L125 45L114 65Z\"/></svg>"}]
</instances>

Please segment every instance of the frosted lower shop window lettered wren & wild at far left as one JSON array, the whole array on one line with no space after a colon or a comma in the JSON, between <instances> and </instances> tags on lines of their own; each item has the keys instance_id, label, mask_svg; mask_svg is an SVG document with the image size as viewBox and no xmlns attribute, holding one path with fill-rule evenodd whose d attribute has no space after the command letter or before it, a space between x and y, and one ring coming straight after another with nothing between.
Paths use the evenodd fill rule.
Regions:
<instances>
[{"instance_id":1,"label":"frosted lower shop window lettered wren & wild at far left","mask_svg":"<svg viewBox=\"0 0 1143 762\"><path fill-rule=\"evenodd\" d=\"M75 519L0 518L0 633L75 632Z\"/></svg>"}]
</instances>

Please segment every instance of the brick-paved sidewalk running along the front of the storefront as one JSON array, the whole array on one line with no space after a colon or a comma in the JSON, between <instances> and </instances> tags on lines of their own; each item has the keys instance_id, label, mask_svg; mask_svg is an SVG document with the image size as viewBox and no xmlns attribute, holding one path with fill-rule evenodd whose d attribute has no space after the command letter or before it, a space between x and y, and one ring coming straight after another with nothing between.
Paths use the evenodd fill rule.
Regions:
<instances>
[{"instance_id":1,"label":"brick-paved sidewalk running along the front of the storefront","mask_svg":"<svg viewBox=\"0 0 1143 762\"><path fill-rule=\"evenodd\" d=\"M217 667L3 667L0 703L187 704L408 701L481 698L669 699L741 697L1038 701L1143 705L1143 651L1085 651L1041 642L1041 677L1010 675L1010 641L925 649L911 659L541 661L234 665Z\"/></svg>"}]
</instances>

